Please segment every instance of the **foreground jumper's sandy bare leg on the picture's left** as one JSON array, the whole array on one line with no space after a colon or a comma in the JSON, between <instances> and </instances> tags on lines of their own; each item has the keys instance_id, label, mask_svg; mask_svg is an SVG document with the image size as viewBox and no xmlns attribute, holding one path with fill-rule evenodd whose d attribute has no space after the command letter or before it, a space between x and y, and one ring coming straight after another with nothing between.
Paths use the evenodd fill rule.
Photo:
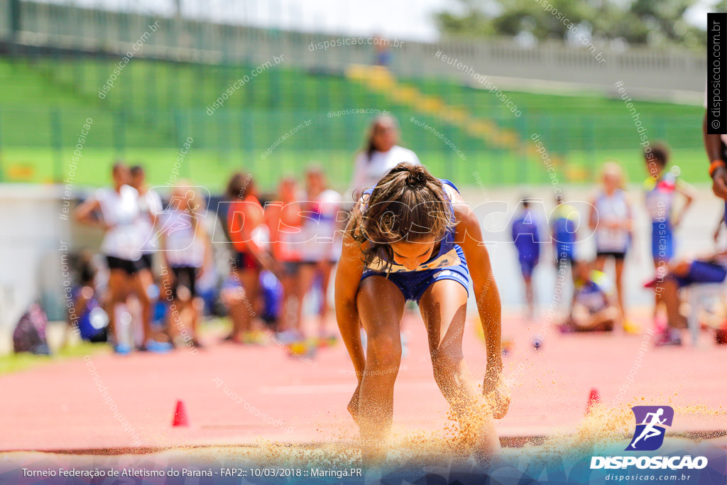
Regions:
<instances>
[{"instance_id":1,"label":"foreground jumper's sandy bare leg on the picture's left","mask_svg":"<svg viewBox=\"0 0 727 485\"><path fill-rule=\"evenodd\" d=\"M391 428L394 381L401 361L399 324L405 303L401 290L382 276L364 278L356 295L358 316L368 342L358 403L354 396L349 411L361 428L365 460L377 456L377 446Z\"/></svg>"}]
</instances>

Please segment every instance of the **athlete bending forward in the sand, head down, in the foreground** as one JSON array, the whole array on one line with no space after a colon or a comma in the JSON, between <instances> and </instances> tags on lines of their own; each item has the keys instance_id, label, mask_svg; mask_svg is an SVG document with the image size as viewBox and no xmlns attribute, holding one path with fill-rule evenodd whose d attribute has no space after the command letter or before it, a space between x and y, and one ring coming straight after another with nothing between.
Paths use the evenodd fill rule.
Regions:
<instances>
[{"instance_id":1,"label":"athlete bending forward in the sand, head down, in the foreground","mask_svg":"<svg viewBox=\"0 0 727 485\"><path fill-rule=\"evenodd\" d=\"M479 221L453 183L402 162L364 191L343 236L335 278L336 318L358 385L348 411L361 431L362 457L385 452L401 362L399 327L407 301L419 304L434 377L473 437L475 458L500 446L494 419L510 399L502 386L501 306ZM470 280L486 337L482 388L462 357ZM368 336L364 352L359 326Z\"/></svg>"}]
</instances>

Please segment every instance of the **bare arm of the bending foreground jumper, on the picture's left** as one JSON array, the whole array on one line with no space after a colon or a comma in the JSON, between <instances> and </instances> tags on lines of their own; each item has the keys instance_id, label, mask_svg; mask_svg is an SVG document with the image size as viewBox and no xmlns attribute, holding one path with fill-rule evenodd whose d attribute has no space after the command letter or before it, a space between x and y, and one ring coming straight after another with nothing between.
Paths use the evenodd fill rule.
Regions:
<instances>
[{"instance_id":1,"label":"bare arm of the bending foreground jumper, on the picture's left","mask_svg":"<svg viewBox=\"0 0 727 485\"><path fill-rule=\"evenodd\" d=\"M358 208L354 210L358 210ZM356 307L356 293L358 293L358 285L363 273L364 262L361 260L361 247L351 236L349 224L347 231L343 233L343 249L336 269L334 284L336 320L359 382L364 376L366 366L366 356L364 356L359 331L358 308Z\"/></svg>"}]
</instances>

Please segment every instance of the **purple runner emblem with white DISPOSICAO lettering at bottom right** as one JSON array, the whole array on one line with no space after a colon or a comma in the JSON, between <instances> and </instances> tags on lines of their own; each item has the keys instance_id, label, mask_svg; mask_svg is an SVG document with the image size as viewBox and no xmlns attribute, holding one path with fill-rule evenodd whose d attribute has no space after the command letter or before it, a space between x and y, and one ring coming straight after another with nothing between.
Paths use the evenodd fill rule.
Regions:
<instances>
[{"instance_id":1,"label":"purple runner emblem with white DISPOSICAO lettering at bottom right","mask_svg":"<svg viewBox=\"0 0 727 485\"><path fill-rule=\"evenodd\" d=\"M653 452L664 444L666 427L671 426L674 420L674 409L670 406L633 406L631 411L636 420L636 429L631 438L627 452ZM590 468L650 468L658 470L702 469L707 466L707 457L672 456L672 457L591 457Z\"/></svg>"}]
</instances>

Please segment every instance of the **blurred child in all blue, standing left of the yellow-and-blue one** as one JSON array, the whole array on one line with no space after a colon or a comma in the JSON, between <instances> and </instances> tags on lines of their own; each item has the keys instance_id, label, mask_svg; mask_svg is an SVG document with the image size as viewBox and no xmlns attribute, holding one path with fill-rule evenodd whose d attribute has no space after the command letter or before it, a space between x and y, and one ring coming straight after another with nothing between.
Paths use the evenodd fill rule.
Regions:
<instances>
[{"instance_id":1,"label":"blurred child in all blue, standing left of the yellow-and-blue one","mask_svg":"<svg viewBox=\"0 0 727 485\"><path fill-rule=\"evenodd\" d=\"M518 250L518 263L525 282L525 300L528 304L527 318L535 316L535 295L533 291L533 272L540 260L540 237L537 218L530 209L528 199L521 199L522 210L515 217L510 228L515 249Z\"/></svg>"}]
</instances>

